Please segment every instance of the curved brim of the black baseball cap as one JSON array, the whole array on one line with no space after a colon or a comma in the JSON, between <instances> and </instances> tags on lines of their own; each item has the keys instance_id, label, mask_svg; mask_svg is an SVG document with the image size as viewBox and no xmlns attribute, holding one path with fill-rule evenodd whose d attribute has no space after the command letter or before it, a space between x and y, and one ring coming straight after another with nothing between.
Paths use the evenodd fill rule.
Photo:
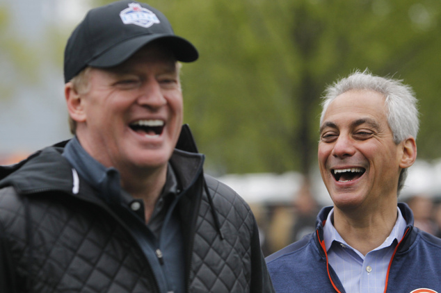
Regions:
<instances>
[{"instance_id":1,"label":"curved brim of the black baseball cap","mask_svg":"<svg viewBox=\"0 0 441 293\"><path fill-rule=\"evenodd\" d=\"M104 68L120 65L122 62L129 59L134 53L136 53L136 51L154 40L161 40L163 44L166 44L178 61L193 62L199 57L198 50L196 50L193 44L182 37L161 34L141 35L139 37L126 40L120 44L116 44L115 46L111 47L111 49L108 49L104 53L97 56L97 58L90 60L88 65L92 67Z\"/></svg>"}]
</instances>

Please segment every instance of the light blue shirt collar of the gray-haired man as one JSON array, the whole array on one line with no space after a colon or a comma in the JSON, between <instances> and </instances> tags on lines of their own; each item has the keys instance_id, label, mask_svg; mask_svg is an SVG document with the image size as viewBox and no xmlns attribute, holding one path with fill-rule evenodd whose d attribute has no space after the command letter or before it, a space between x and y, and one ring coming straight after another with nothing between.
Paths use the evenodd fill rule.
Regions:
<instances>
[{"instance_id":1,"label":"light blue shirt collar of the gray-haired man","mask_svg":"<svg viewBox=\"0 0 441 293\"><path fill-rule=\"evenodd\" d=\"M396 219L394 228L392 228L392 231L390 235L386 238L385 242L378 246L376 249L382 249L384 247L392 245L394 240L397 240L397 242L401 241L401 238L404 235L404 231L406 230L406 220L404 219L403 215L401 214L401 210L396 207L396 210L398 210L398 217ZM345 244L348 246L346 241L342 238L342 236L339 235L337 230L334 227L334 224L332 224L332 219L334 217L334 208L330 210L328 217L326 217L326 223L323 227L323 240L325 241L326 251L329 251L332 242L340 242L342 244Z\"/></svg>"}]
</instances>

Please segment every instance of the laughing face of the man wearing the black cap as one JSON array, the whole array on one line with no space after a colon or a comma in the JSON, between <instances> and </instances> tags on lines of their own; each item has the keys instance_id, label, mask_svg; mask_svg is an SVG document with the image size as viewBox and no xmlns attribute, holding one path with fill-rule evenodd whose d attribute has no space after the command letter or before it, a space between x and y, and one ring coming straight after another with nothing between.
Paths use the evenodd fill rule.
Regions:
<instances>
[{"instance_id":1,"label":"laughing face of the man wearing the black cap","mask_svg":"<svg viewBox=\"0 0 441 293\"><path fill-rule=\"evenodd\" d=\"M111 69L93 68L88 90L66 85L67 106L88 153L121 173L166 169L182 126L173 55L150 44Z\"/></svg>"}]
</instances>

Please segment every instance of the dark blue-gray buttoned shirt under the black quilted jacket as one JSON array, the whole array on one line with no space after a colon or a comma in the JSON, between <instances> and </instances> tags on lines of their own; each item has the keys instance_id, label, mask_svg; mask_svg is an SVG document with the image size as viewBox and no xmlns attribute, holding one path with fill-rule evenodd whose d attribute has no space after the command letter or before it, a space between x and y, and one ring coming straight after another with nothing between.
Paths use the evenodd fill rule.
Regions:
<instances>
[{"instance_id":1,"label":"dark blue-gray buttoned shirt under the black quilted jacket","mask_svg":"<svg viewBox=\"0 0 441 293\"><path fill-rule=\"evenodd\" d=\"M63 156L97 194L111 207L140 244L149 260L161 292L184 292L184 251L179 218L174 208L180 193L177 178L169 165L166 185L155 204L152 217L145 226L144 204L120 186L117 169L106 168L81 147L77 137L67 143ZM158 256L161 251L161 259Z\"/></svg>"}]
</instances>

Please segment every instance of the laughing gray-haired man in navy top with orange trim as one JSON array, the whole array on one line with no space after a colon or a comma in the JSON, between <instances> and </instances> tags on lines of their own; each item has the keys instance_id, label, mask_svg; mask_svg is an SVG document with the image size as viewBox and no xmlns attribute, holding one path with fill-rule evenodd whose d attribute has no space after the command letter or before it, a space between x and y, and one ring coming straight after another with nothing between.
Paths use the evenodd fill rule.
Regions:
<instances>
[{"instance_id":1,"label":"laughing gray-haired man in navy top with orange trim","mask_svg":"<svg viewBox=\"0 0 441 293\"><path fill-rule=\"evenodd\" d=\"M412 89L354 72L322 106L319 169L334 205L314 233L266 258L276 292L440 292L441 240L397 199L417 157Z\"/></svg>"}]
</instances>

